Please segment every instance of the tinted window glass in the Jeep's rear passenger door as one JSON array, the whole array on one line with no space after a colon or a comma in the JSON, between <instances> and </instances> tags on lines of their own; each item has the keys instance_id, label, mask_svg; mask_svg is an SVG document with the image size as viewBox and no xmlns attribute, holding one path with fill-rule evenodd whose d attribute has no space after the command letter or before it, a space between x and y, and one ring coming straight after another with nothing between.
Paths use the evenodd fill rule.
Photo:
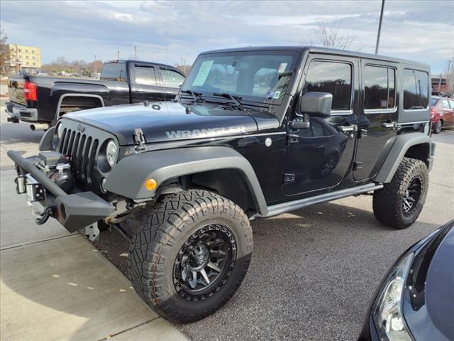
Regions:
<instances>
[{"instance_id":1,"label":"tinted window glass in the Jeep's rear passenger door","mask_svg":"<svg viewBox=\"0 0 454 341\"><path fill-rule=\"evenodd\" d=\"M364 68L364 109L394 108L396 89L394 69L366 66Z\"/></svg>"}]
</instances>

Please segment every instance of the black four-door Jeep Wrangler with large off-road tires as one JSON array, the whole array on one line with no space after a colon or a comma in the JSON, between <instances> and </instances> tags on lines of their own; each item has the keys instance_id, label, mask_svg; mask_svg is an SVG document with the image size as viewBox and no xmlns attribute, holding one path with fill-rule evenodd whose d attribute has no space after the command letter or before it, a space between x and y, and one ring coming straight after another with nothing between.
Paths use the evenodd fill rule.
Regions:
<instances>
[{"instance_id":1,"label":"black four-door Jeep Wrangler with large off-road tires","mask_svg":"<svg viewBox=\"0 0 454 341\"><path fill-rule=\"evenodd\" d=\"M325 48L201 53L174 102L66 114L38 156L9 151L17 190L39 224L121 229L138 295L199 320L243 281L254 218L373 192L383 224L416 220L435 147L429 75Z\"/></svg>"}]
</instances>

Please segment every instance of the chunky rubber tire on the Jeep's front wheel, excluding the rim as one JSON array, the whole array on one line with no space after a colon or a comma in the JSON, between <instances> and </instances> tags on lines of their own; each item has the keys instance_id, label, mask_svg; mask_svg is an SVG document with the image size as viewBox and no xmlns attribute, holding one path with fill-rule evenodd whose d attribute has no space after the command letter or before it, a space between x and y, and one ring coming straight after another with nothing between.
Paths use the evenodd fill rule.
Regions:
<instances>
[{"instance_id":1,"label":"chunky rubber tire on the Jeep's front wheel, excluding the rim","mask_svg":"<svg viewBox=\"0 0 454 341\"><path fill-rule=\"evenodd\" d=\"M236 292L248 271L253 251L250 222L238 205L206 190L185 190L161 197L152 210L136 217L128 270L135 291L162 318L189 323L211 315ZM237 242L230 275L214 293L188 300L177 293L174 264L179 250L207 224L223 224Z\"/></svg>"}]
</instances>

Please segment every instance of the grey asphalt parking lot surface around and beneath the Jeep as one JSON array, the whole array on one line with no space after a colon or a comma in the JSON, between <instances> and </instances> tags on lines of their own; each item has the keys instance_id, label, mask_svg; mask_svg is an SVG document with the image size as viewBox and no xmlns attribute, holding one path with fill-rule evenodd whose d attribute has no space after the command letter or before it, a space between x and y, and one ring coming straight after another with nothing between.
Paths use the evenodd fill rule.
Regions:
<instances>
[{"instance_id":1,"label":"grey asphalt parking lot surface around and beneath the Jeep","mask_svg":"<svg viewBox=\"0 0 454 341\"><path fill-rule=\"evenodd\" d=\"M31 153L42 135L21 125L26 126L1 125L2 169L11 167L4 163L4 148ZM428 197L414 225L384 227L375 220L368 195L255 220L253 260L236 295L214 315L176 327L204 341L355 340L373 293L397 256L454 218L454 131L433 140ZM126 274L125 239L106 231L95 246Z\"/></svg>"}]
</instances>

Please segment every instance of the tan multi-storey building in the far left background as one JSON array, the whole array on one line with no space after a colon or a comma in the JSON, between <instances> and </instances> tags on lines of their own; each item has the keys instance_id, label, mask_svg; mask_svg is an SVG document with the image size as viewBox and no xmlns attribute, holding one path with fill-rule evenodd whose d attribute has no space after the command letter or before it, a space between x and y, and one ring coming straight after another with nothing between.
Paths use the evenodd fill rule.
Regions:
<instances>
[{"instance_id":1,"label":"tan multi-storey building in the far left background","mask_svg":"<svg viewBox=\"0 0 454 341\"><path fill-rule=\"evenodd\" d=\"M38 73L41 68L41 51L35 46L8 44L8 59L10 73Z\"/></svg>"}]
</instances>

